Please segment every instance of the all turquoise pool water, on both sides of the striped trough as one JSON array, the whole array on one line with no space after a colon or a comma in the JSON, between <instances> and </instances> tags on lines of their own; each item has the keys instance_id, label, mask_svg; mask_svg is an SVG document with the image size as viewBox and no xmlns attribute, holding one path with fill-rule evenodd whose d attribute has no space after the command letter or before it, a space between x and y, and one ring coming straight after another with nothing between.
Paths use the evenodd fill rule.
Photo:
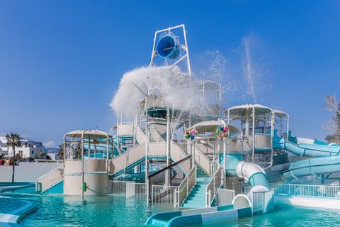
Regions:
<instances>
[{"instance_id":1,"label":"all turquoise pool water, on both sides of the striped trough","mask_svg":"<svg viewBox=\"0 0 340 227\"><path fill-rule=\"evenodd\" d=\"M81 196L35 194L33 189L2 194L40 203L39 209L23 218L19 226L144 226L150 215L174 209L169 205L147 206L144 200L119 195L81 199ZM276 205L274 211L263 216L210 226L340 226L339 216L340 210Z\"/></svg>"}]
</instances>

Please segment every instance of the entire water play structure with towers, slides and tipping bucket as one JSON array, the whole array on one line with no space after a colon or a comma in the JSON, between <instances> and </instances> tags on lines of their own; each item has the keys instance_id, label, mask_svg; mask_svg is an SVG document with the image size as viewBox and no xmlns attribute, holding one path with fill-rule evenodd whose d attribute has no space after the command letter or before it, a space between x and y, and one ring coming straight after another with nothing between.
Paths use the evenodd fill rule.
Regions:
<instances>
[{"instance_id":1,"label":"entire water play structure with towers, slides and tipping bucket","mask_svg":"<svg viewBox=\"0 0 340 227\"><path fill-rule=\"evenodd\" d=\"M273 182L292 181L300 185L292 189L298 194L314 181L322 186L307 188L306 196L321 189L323 196L339 196L339 187L327 189L329 183L339 185L339 145L291 136L289 115L267 106L222 111L221 94L221 84L193 80L183 25L157 31L149 67L126 74L113 98L117 125L110 133L66 133L64 165L40 177L37 191L81 196L124 191L183 208L150 216L146 224L153 226L266 214L274 209L274 195L286 195L291 204L291 194ZM132 122L124 121L125 110Z\"/></svg>"}]
</instances>

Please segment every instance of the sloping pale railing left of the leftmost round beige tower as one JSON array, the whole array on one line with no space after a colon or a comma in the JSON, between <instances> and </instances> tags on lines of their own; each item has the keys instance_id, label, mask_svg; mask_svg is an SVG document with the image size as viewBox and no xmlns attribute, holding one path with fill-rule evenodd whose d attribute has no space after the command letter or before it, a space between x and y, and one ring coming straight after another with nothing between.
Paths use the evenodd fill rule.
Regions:
<instances>
[{"instance_id":1,"label":"sloping pale railing left of the leftmost round beige tower","mask_svg":"<svg viewBox=\"0 0 340 227\"><path fill-rule=\"evenodd\" d=\"M64 165L60 165L55 169L42 175L35 182L36 192L46 192L51 187L59 184L64 180Z\"/></svg>"}]
</instances>

